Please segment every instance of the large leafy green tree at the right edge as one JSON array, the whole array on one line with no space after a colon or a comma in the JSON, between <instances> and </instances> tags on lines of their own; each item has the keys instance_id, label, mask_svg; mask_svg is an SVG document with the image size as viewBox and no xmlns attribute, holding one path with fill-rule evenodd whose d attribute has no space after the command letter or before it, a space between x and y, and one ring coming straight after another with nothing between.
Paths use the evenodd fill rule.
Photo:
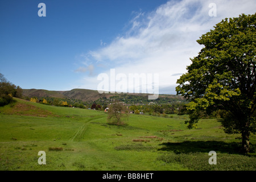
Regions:
<instances>
[{"instance_id":1,"label":"large leafy green tree at the right edge","mask_svg":"<svg viewBox=\"0 0 256 182\"><path fill-rule=\"evenodd\" d=\"M249 152L249 137L255 133L256 13L226 18L197 40L204 47L191 59L187 73L178 80L177 94L190 102L188 127L203 114L224 111L226 133L242 135L242 151Z\"/></svg>"}]
</instances>

